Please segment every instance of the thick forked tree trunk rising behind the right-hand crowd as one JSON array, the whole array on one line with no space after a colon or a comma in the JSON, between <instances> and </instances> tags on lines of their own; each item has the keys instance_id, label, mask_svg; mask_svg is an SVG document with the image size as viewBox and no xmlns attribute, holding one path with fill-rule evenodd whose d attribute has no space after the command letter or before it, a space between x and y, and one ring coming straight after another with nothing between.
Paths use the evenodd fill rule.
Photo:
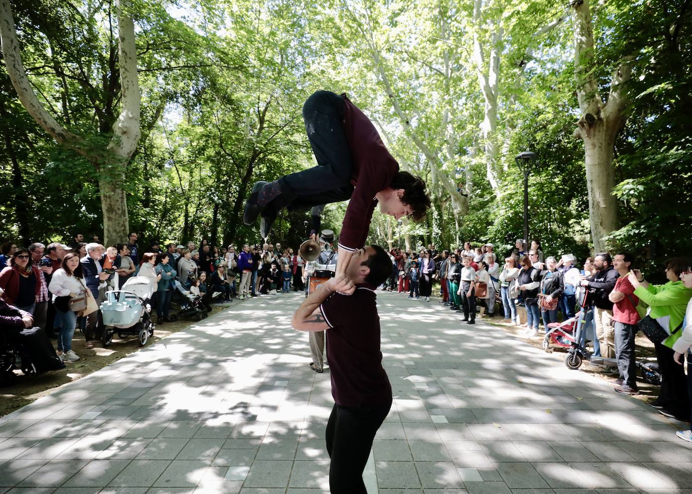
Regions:
<instances>
[{"instance_id":1,"label":"thick forked tree trunk rising behind the right-hand crowd","mask_svg":"<svg viewBox=\"0 0 692 494\"><path fill-rule=\"evenodd\" d=\"M615 136L625 123L624 87L630 79L630 57L626 57L610 80L608 102L599 93L594 35L589 0L571 4L574 25L574 68L576 95L581 118L574 131L584 141L589 192L591 237L596 252L607 249L603 238L617 229L617 201L612 194L615 169L612 164Z\"/></svg>"}]
</instances>

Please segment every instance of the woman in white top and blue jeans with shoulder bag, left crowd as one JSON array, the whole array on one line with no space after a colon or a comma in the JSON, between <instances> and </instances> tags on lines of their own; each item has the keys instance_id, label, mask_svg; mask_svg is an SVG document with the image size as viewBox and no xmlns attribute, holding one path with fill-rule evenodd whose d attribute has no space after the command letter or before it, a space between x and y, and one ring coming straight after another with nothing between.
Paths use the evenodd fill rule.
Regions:
<instances>
[{"instance_id":1,"label":"woman in white top and blue jeans with shoulder bag, left crowd","mask_svg":"<svg viewBox=\"0 0 692 494\"><path fill-rule=\"evenodd\" d=\"M79 356L72 349L77 313L70 309L70 300L86 293L80 256L69 253L62 258L61 268L53 273L48 291L53 293L53 306L62 321L57 333L57 356L63 362L75 362Z\"/></svg>"}]
</instances>

